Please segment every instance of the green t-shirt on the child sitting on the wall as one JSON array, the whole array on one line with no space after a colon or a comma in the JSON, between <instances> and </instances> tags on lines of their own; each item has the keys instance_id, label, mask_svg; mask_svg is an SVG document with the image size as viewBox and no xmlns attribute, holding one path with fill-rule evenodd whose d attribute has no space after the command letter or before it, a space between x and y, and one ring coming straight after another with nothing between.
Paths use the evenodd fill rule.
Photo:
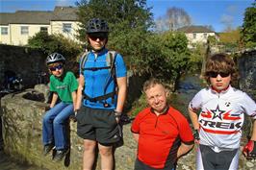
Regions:
<instances>
[{"instance_id":1,"label":"green t-shirt on the child sitting on the wall","mask_svg":"<svg viewBox=\"0 0 256 170\"><path fill-rule=\"evenodd\" d=\"M70 71L64 72L63 79L52 75L50 77L50 91L56 92L62 102L73 103L72 92L77 90L78 82Z\"/></svg>"}]
</instances>

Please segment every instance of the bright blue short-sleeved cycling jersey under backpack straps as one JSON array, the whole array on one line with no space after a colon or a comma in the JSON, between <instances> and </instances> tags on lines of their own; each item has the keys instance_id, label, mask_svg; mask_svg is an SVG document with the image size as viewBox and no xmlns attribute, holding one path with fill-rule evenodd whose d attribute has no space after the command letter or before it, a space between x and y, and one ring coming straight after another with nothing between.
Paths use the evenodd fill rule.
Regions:
<instances>
[{"instance_id":1,"label":"bright blue short-sleeved cycling jersey under backpack straps","mask_svg":"<svg viewBox=\"0 0 256 170\"><path fill-rule=\"evenodd\" d=\"M94 53L90 53L87 61L85 62L84 67L86 70L80 70L80 73L85 77L85 89L84 93L87 94L90 98L95 98L98 96L102 96L113 92L115 90L115 82L113 77L111 76L111 72L109 69L97 69L90 70L88 68L92 67L105 67L107 65L106 57L108 50L104 49L101 53L94 55ZM80 61L81 64L81 61ZM126 77L126 66L121 57L121 55L117 54L115 59L115 75L116 78ZM108 108L105 108L103 103L107 102L109 104ZM92 109L115 109L117 102L117 96L115 94L115 98L108 98L106 101L95 101L91 102L90 100L84 99L84 106L92 108Z\"/></svg>"}]
</instances>

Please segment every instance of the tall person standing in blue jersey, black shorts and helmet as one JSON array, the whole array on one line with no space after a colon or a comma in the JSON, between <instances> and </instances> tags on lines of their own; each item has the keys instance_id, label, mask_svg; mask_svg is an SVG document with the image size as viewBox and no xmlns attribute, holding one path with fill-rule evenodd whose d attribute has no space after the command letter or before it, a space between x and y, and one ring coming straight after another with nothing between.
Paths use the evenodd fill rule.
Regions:
<instances>
[{"instance_id":1,"label":"tall person standing in blue jersey, black shorts and helmet","mask_svg":"<svg viewBox=\"0 0 256 170\"><path fill-rule=\"evenodd\" d=\"M121 55L106 48L105 20L90 19L86 33L90 52L80 60L76 105L77 134L84 139L83 169L92 169L98 147L101 169L112 170L113 146L122 138L118 122L126 98L126 66Z\"/></svg>"}]
</instances>

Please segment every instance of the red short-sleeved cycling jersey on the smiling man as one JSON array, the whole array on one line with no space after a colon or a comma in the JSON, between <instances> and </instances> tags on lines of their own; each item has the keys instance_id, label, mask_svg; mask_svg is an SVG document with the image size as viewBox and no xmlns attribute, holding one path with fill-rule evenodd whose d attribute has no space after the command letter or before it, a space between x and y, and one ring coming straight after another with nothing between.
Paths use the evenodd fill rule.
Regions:
<instances>
[{"instance_id":1,"label":"red short-sleeved cycling jersey on the smiling man","mask_svg":"<svg viewBox=\"0 0 256 170\"><path fill-rule=\"evenodd\" d=\"M139 135L138 158L153 168L175 164L180 142L193 143L190 125L178 110L169 108L157 116L150 108L135 118L132 133Z\"/></svg>"}]
</instances>

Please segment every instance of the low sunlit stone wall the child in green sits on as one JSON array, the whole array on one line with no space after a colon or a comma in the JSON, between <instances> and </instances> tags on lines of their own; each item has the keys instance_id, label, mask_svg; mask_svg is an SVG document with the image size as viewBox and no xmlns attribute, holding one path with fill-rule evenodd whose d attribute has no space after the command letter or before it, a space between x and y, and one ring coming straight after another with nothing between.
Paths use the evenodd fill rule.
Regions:
<instances>
[{"instance_id":1,"label":"low sunlit stone wall the child in green sits on","mask_svg":"<svg viewBox=\"0 0 256 170\"><path fill-rule=\"evenodd\" d=\"M28 95L29 94L29 95ZM70 154L63 161L55 162L52 156L42 156L41 143L41 118L48 104L37 97L38 101L28 100L38 95L35 89L27 89L18 94L9 94L2 98L1 109L3 111L3 128L5 140L5 152L19 161L27 161L31 164L44 167L49 170L80 170L82 169L83 140L76 134L76 123L70 121ZM26 96L27 99L24 98ZM39 95L40 96L40 95ZM124 145L115 150L115 170L133 170L136 159L137 144L130 132L131 124L123 126ZM246 140L243 138L242 144ZM187 156L180 158L177 170L195 169L195 152L192 150ZM255 169L253 161L247 161L240 157L241 170ZM100 169L97 163L96 170Z\"/></svg>"}]
</instances>

